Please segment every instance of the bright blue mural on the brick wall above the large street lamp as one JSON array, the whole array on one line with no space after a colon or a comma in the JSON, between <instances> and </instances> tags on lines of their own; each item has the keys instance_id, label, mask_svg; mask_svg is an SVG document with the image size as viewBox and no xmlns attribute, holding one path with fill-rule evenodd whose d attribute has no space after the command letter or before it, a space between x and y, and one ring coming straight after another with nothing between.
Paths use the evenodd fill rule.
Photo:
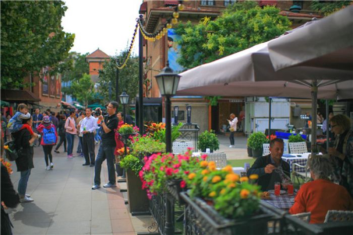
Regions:
<instances>
[{"instance_id":1,"label":"bright blue mural on the brick wall above the large street lamp","mask_svg":"<svg viewBox=\"0 0 353 235\"><path fill-rule=\"evenodd\" d=\"M178 44L178 40L180 39L181 37L180 35L175 33L175 29L168 29L169 67L177 73L180 73L185 70L185 68L177 62L177 59L181 56L180 50L182 46Z\"/></svg>"}]
</instances>

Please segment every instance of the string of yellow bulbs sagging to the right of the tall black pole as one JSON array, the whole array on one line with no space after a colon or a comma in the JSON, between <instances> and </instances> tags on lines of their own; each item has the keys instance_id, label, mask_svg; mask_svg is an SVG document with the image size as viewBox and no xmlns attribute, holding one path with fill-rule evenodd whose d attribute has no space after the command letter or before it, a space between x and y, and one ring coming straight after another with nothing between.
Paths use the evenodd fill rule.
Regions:
<instances>
[{"instance_id":1,"label":"string of yellow bulbs sagging to the right of the tall black pole","mask_svg":"<svg viewBox=\"0 0 353 235\"><path fill-rule=\"evenodd\" d=\"M148 41L156 41L161 39L167 32L168 29L172 28L172 25L176 25L178 24L178 18L179 18L179 11L183 11L184 10L184 5L183 5L183 1L178 1L179 4L177 7L174 7L174 11L171 15L170 18L168 18L166 20L166 23L163 24L159 30L157 30L157 32L155 33L148 33L145 29L145 27L143 26L143 23L141 22L142 19L139 18L137 19L137 23L139 25L139 29L141 31L142 36L144 37L144 39L148 40Z\"/></svg>"}]
</instances>

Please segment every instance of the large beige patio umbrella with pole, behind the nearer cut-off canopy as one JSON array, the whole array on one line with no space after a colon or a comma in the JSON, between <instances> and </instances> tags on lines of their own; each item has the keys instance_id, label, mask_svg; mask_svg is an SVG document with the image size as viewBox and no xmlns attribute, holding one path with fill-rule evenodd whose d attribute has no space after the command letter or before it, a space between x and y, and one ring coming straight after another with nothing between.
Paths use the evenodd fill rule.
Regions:
<instances>
[{"instance_id":1,"label":"large beige patio umbrella with pole, behind the nearer cut-off canopy","mask_svg":"<svg viewBox=\"0 0 353 235\"><path fill-rule=\"evenodd\" d=\"M275 71L268 53L269 42L181 73L177 94L312 98L314 113L317 98L353 98L353 81L349 81L353 80L353 71L306 66Z\"/></svg>"}]
</instances>

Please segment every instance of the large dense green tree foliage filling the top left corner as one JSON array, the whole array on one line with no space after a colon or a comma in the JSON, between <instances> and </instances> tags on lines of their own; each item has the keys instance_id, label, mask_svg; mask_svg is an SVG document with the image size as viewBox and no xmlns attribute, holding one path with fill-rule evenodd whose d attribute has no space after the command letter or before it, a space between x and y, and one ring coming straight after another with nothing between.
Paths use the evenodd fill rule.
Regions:
<instances>
[{"instance_id":1,"label":"large dense green tree foliage filling the top left corner","mask_svg":"<svg viewBox=\"0 0 353 235\"><path fill-rule=\"evenodd\" d=\"M24 87L23 77L51 72L69 53L74 34L61 27L62 1L1 1L1 82L3 88Z\"/></svg>"}]
</instances>

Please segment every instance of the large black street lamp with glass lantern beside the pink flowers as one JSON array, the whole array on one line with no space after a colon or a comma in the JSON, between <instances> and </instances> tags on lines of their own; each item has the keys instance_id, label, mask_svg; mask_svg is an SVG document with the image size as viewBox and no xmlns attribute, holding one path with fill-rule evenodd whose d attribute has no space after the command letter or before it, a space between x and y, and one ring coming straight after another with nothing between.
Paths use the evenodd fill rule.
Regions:
<instances>
[{"instance_id":1,"label":"large black street lamp with glass lantern beside the pink flowers","mask_svg":"<svg viewBox=\"0 0 353 235\"><path fill-rule=\"evenodd\" d=\"M165 150L166 152L171 152L171 115L170 115L170 97L174 96L177 92L180 75L174 73L169 67L169 62L167 61L167 66L164 67L158 75L155 76L160 94L165 97ZM165 219L165 234L174 234L173 227L173 214L172 214L172 202L170 195L167 195L166 203L166 219Z\"/></svg>"}]
</instances>

